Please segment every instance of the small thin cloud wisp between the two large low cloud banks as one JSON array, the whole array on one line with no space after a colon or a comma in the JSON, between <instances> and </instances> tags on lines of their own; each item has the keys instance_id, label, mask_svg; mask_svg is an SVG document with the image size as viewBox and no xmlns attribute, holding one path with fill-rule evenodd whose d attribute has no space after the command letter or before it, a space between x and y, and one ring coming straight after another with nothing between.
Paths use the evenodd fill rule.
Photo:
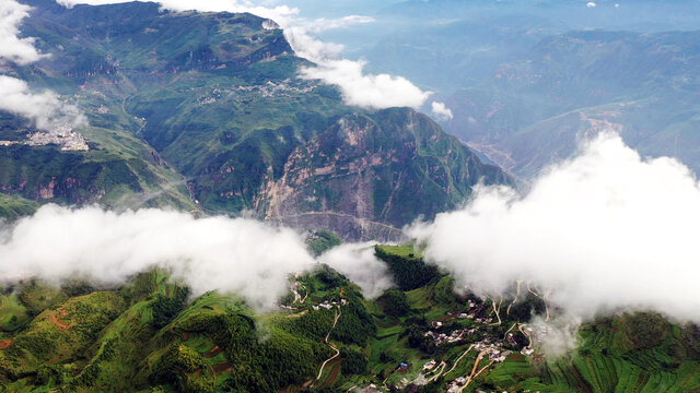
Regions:
<instances>
[{"instance_id":1,"label":"small thin cloud wisp between the two large low cloud banks","mask_svg":"<svg viewBox=\"0 0 700 393\"><path fill-rule=\"evenodd\" d=\"M374 255L374 243L350 243L335 247L318 258L325 263L358 284L368 299L374 299L394 282L386 263Z\"/></svg>"}]
</instances>

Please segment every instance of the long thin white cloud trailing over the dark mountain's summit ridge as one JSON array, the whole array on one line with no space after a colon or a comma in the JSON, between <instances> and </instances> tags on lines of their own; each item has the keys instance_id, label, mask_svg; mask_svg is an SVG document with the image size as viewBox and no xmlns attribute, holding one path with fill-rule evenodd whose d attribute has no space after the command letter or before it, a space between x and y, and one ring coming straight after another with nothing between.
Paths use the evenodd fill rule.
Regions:
<instances>
[{"instance_id":1,"label":"long thin white cloud trailing over the dark mountain's summit ridge","mask_svg":"<svg viewBox=\"0 0 700 393\"><path fill-rule=\"evenodd\" d=\"M66 7L77 4L109 4L127 0L58 0ZM164 9L172 11L228 11L249 12L261 17L275 20L283 29L287 40L299 57L305 58L317 67L300 70L303 79L320 80L323 83L338 86L348 105L362 108L384 109L397 106L421 107L431 92L423 92L405 78L389 74L365 74L364 61L351 61L340 58L342 45L324 43L315 38L317 34L331 28L345 28L358 23L374 22L372 17L349 15L341 19L306 20L299 17L299 9L279 5L267 8L249 1L201 0L159 0Z\"/></svg>"}]
</instances>

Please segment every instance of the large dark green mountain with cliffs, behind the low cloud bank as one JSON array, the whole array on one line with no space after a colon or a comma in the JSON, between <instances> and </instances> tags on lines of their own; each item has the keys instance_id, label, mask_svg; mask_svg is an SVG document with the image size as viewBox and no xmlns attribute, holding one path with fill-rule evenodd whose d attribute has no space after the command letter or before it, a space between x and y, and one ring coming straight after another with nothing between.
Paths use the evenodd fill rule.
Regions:
<instances>
[{"instance_id":1,"label":"large dark green mountain with cliffs, behind the low cloud bank","mask_svg":"<svg viewBox=\"0 0 700 393\"><path fill-rule=\"evenodd\" d=\"M90 148L16 143L32 124L4 114L1 139L15 141L0 146L4 193L254 211L372 238L456 206L479 181L511 183L423 115L349 107L336 88L299 79L311 63L264 19L27 3L23 34L50 57L9 74L71 97L89 120L80 133ZM350 129L364 131L342 142Z\"/></svg>"}]
</instances>

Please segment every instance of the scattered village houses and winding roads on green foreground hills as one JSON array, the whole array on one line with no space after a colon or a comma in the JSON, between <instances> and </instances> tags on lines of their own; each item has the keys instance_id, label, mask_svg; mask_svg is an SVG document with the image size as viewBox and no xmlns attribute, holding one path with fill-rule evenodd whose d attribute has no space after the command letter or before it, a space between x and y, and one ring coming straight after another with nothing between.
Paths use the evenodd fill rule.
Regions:
<instances>
[{"instance_id":1,"label":"scattered village houses and winding roads on green foreground hills","mask_svg":"<svg viewBox=\"0 0 700 393\"><path fill-rule=\"evenodd\" d=\"M293 298L290 296L287 305L280 305L281 309L292 312L301 311L301 313L320 310L340 311L342 306L348 305L348 300L342 297L329 297L323 301L315 300L310 305L307 302L307 289L299 281L292 283L291 294ZM430 340L435 348L464 346L460 356L451 361L439 358L430 359L422 365L416 365L415 361L409 359L398 361L394 372L382 383L365 385L360 391L368 393L386 392L389 386L395 386L410 392L420 385L448 377L450 379L444 382L442 391L445 393L462 393L479 376L488 373L489 369L492 369L494 365L504 362L514 354L540 360L541 355L536 354L533 346L544 341L551 333L551 330L545 324L529 325L515 322L512 318L506 325L503 319L509 320L505 317L510 312L510 307L501 309L501 303L502 301L497 303L493 300L468 300L465 302L464 309L447 311L444 317L427 321L422 327L422 337ZM330 343L327 343L327 345L337 353L337 348ZM468 356L469 354L471 356ZM332 360L332 358L328 360ZM419 367L418 374L416 374L417 371L411 372L415 367ZM397 374L399 376L398 380L395 377L393 379L394 383L388 382L390 376ZM400 374L405 376L400 377Z\"/></svg>"}]
</instances>

